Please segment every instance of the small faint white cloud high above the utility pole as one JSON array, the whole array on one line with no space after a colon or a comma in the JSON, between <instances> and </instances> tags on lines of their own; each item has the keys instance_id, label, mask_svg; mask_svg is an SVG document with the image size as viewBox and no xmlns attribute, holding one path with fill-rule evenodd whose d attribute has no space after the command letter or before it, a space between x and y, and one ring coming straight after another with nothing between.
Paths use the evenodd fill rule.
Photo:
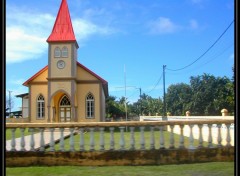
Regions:
<instances>
[{"instance_id":1,"label":"small faint white cloud high above the utility pole","mask_svg":"<svg viewBox=\"0 0 240 176\"><path fill-rule=\"evenodd\" d=\"M179 26L174 24L169 18L159 17L148 24L151 34L167 34L174 33L179 29Z\"/></svg>"}]
</instances>

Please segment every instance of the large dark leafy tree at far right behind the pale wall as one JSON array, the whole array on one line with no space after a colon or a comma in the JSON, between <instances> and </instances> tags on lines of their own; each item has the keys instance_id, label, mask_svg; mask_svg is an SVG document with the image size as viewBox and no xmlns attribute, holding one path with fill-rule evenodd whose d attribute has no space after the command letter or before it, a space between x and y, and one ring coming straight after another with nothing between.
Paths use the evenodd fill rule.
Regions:
<instances>
[{"instance_id":1,"label":"large dark leafy tree at far right behind the pale wall","mask_svg":"<svg viewBox=\"0 0 240 176\"><path fill-rule=\"evenodd\" d=\"M191 112L193 115L219 115L221 109L233 110L232 82L227 77L203 74L190 77L192 88Z\"/></svg>"}]
</instances>

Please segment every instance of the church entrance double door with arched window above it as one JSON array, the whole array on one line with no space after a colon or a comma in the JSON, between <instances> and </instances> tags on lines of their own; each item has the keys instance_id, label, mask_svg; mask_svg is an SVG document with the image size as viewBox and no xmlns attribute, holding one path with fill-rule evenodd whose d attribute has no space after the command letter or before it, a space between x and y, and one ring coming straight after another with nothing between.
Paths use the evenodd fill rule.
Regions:
<instances>
[{"instance_id":1,"label":"church entrance double door with arched window above it","mask_svg":"<svg viewBox=\"0 0 240 176\"><path fill-rule=\"evenodd\" d=\"M59 110L60 122L71 122L71 103L66 95L60 100Z\"/></svg>"}]
</instances>

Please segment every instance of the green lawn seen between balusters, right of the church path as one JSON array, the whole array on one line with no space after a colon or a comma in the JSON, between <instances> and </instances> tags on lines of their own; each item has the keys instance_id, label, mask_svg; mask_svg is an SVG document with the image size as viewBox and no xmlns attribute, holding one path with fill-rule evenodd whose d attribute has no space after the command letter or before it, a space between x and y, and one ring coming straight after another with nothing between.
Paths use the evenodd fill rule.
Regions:
<instances>
[{"instance_id":1,"label":"green lawn seen between balusters, right of the church path","mask_svg":"<svg viewBox=\"0 0 240 176\"><path fill-rule=\"evenodd\" d=\"M124 132L124 140L125 140L125 148L126 149L130 149L130 132L129 130L127 132ZM135 130L134 132L134 136L135 136L135 148L136 149L140 149L140 137L141 137L141 133L138 129ZM151 133L148 129L145 130L144 132L144 138L145 138L145 147L146 149L150 148L150 138L151 138ZM154 138L155 138L155 148L158 149L160 148L160 132L159 130L156 130L154 132ZM114 132L114 142L115 142L115 149L120 149L120 145L119 145L119 140L120 140L120 132L118 129L115 130ZM70 139L65 139L64 140L64 145L65 145L65 150L69 150L70 149L70 145L69 145L69 141ZM100 133L99 132L95 132L94 133L94 143L95 143L95 150L99 150L100 146L99 146L99 141L100 141ZM104 141L105 141L105 150L108 150L110 148L110 132L109 130L106 130L104 132ZM165 148L169 147L169 142L170 141L170 132L168 131L164 131L164 143L165 143ZM80 143L80 135L75 135L74 136L74 148L75 150L79 150L79 144ZM89 150L90 148L90 132L86 132L84 134L84 143L85 143L85 150ZM174 145L176 148L178 148L179 146L179 135L174 134ZM188 137L184 137L184 145L185 147L189 146L189 138ZM204 142L203 143L204 146L207 146L208 143ZM198 140L194 140L194 146L197 147L198 146ZM55 149L59 150L60 149L60 144L56 144L55 145ZM49 150L49 149L47 149Z\"/></svg>"}]
</instances>

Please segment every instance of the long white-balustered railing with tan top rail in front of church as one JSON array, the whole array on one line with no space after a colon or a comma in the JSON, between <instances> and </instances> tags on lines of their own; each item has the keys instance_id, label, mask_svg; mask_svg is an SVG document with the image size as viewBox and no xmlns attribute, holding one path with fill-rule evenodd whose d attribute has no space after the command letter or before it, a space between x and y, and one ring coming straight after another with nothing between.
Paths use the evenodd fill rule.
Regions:
<instances>
[{"instance_id":1,"label":"long white-balustered railing with tan top rail in front of church","mask_svg":"<svg viewBox=\"0 0 240 176\"><path fill-rule=\"evenodd\" d=\"M65 148L65 138L69 137L70 152L76 151L126 151L126 150L154 150L154 149L197 149L197 148L219 148L230 147L234 138L231 133L231 125L234 120L185 120L185 121L143 121L143 122L92 122L92 123L6 123L6 128L11 130L11 141L7 146L7 152L11 151L40 151L54 152L67 151ZM203 145L203 127L208 128L207 145ZM168 128L166 128L168 127ZM187 145L184 139L184 129L188 127ZM194 144L194 132L198 131L197 144ZM19 128L21 135L19 140L15 137L15 131ZM24 131L29 129L29 140L26 140ZM179 129L178 143L175 140L174 129ZM213 131L217 129L217 142L213 144ZM166 137L166 129L169 129L169 138ZM36 133L36 130L38 133ZM223 130L225 137L223 138ZM58 136L56 136L56 131ZM86 134L87 131L87 134ZM136 138L135 133L139 133ZM116 141L115 134L118 133L119 138ZM146 138L146 133L149 134ZM95 135L99 138L96 141ZM128 134L126 139L125 134ZM89 135L86 141L85 135ZM106 135L108 137L106 138ZM74 137L78 137L76 144ZM158 136L158 138L156 138ZM168 141L167 141L168 140ZM59 149L55 147L55 143L59 142ZM223 144L223 141L224 144ZM147 144L148 143L148 147ZM166 145L168 143L168 145ZM36 146L38 145L38 146ZM77 145L77 147L76 147ZM139 145L139 146L138 146ZM128 147L126 147L128 146ZM48 147L48 148L46 148Z\"/></svg>"}]
</instances>

